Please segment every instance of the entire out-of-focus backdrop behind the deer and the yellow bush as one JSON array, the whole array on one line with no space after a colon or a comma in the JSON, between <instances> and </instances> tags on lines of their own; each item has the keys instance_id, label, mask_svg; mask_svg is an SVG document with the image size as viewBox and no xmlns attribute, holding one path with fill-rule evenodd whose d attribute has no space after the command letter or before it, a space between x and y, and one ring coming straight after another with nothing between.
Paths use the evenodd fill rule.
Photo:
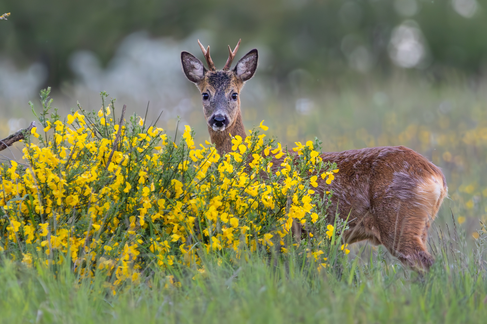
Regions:
<instances>
[{"instance_id":1,"label":"entire out-of-focus backdrop behind the deer and the yellow bush","mask_svg":"<svg viewBox=\"0 0 487 324\"><path fill-rule=\"evenodd\" d=\"M451 217L473 235L487 218L487 0L155 1L0 0L0 135L26 126L27 102L53 87L62 114L98 110L155 119L174 134L208 135L180 51L217 67L226 46L259 50L242 94L248 128L262 119L285 144L314 136L323 150L406 145L445 172ZM19 148L2 153L19 156ZM10 154L10 155L9 155Z\"/></svg>"}]
</instances>

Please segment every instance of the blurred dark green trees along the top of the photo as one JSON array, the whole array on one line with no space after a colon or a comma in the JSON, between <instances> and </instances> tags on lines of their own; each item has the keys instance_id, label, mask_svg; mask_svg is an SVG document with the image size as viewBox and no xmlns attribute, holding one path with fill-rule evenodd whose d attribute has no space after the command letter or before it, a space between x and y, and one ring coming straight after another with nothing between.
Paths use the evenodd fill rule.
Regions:
<instances>
[{"instance_id":1,"label":"blurred dark green trees along the top of the photo","mask_svg":"<svg viewBox=\"0 0 487 324\"><path fill-rule=\"evenodd\" d=\"M484 68L486 4L485 0L1 0L0 8L13 14L3 22L0 37L3 55L15 57L19 64L45 64L46 84L52 86L75 76L68 64L74 51L94 51L106 65L120 42L140 30L176 41L206 30L212 34L217 62L225 62L226 45L234 45L240 37L244 45L250 40L262 43L269 62L261 74L283 78L299 67L323 83L350 65L387 75L391 36L409 22L419 32L409 37L418 38L426 54L422 68L434 69L441 78L444 67L473 73ZM403 61L408 67L417 65L412 58Z\"/></svg>"}]
</instances>

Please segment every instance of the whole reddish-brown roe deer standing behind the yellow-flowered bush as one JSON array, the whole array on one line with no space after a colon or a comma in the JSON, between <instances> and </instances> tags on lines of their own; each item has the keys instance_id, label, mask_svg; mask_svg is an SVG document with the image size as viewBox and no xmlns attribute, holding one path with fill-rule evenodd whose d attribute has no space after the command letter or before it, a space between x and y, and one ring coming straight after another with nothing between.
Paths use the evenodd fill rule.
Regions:
<instances>
[{"instance_id":1,"label":"whole reddish-brown roe deer standing behind the yellow-flowered bush","mask_svg":"<svg viewBox=\"0 0 487 324\"><path fill-rule=\"evenodd\" d=\"M240 111L240 91L257 68L257 50L249 51L230 70L234 51L222 70L216 70L209 46L205 50L208 70L203 63L183 51L181 61L187 78L202 94L203 112L211 141L222 155L231 150L228 135L245 138ZM345 219L350 213L350 230L345 241L353 243L369 240L384 245L402 262L416 269L428 269L433 258L426 247L428 229L434 220L447 185L438 167L419 153L404 146L375 147L343 152L322 153L323 161L337 163L339 172L328 188L333 190L331 210L338 210ZM282 159L282 158L281 158ZM274 165L279 165L274 163ZM318 177L317 193L325 190L324 180ZM333 223L335 215L328 215ZM300 227L293 224L293 234L300 239Z\"/></svg>"}]
</instances>

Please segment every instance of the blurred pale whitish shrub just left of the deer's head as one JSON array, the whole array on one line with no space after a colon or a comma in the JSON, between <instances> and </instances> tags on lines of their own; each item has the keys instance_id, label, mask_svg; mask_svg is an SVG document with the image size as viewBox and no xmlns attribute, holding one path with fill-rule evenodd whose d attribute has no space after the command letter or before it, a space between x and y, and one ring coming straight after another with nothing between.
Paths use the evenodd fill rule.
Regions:
<instances>
[{"instance_id":1,"label":"blurred pale whitish shrub just left of the deer's head","mask_svg":"<svg viewBox=\"0 0 487 324\"><path fill-rule=\"evenodd\" d=\"M187 80L181 72L184 43L150 39L146 33L127 36L107 68L91 51L76 51L70 67L81 83L111 96L130 95L137 102L179 102L187 97ZM153 102L153 103L155 103Z\"/></svg>"}]
</instances>

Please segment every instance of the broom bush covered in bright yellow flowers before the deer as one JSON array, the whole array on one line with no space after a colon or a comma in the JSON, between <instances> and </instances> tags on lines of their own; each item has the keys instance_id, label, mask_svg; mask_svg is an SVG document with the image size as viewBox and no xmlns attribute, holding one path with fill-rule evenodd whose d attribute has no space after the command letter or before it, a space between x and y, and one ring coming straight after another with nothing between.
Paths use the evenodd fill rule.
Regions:
<instances>
[{"instance_id":1,"label":"broom bush covered in bright yellow flowers before the deer","mask_svg":"<svg viewBox=\"0 0 487 324\"><path fill-rule=\"evenodd\" d=\"M261 123L220 156L208 142L196 146L189 126L176 144L135 114L117 123L103 92L98 112L78 105L61 119L49 90L38 117L33 108L42 126L24 140L22 162L1 163L4 254L28 266L71 262L81 277L102 273L115 289L149 266L203 272L207 254L285 254L299 222L307 253L326 266L319 246L339 241L337 224L325 223L331 193L313 188L338 170L321 161L318 140L297 143L291 156Z\"/></svg>"}]
</instances>

